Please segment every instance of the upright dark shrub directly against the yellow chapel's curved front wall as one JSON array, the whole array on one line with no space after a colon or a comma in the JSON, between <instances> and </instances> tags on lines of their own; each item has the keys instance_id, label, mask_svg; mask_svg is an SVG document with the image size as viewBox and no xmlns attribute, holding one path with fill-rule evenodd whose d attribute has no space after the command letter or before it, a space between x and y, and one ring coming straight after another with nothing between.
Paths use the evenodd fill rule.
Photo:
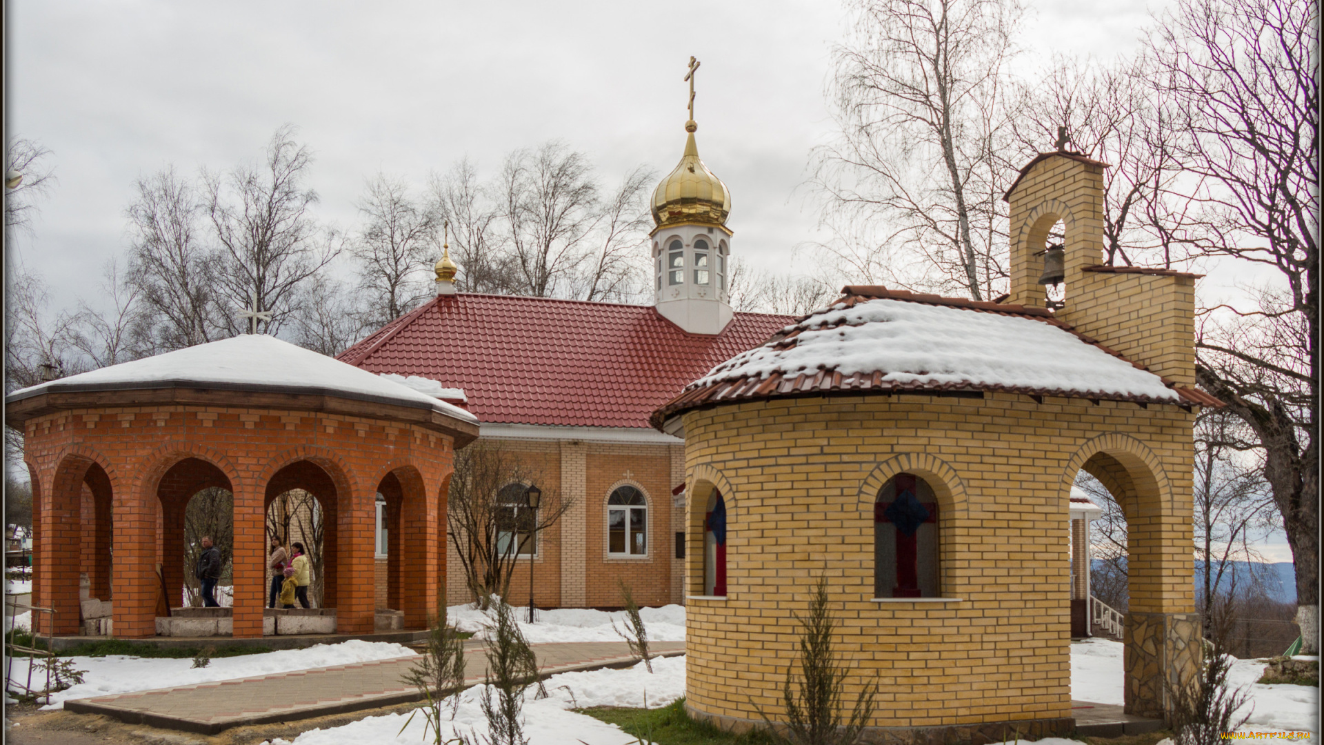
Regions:
<instances>
[{"instance_id":1,"label":"upright dark shrub directly against the yellow chapel's curved front wall","mask_svg":"<svg viewBox=\"0 0 1324 745\"><path fill-rule=\"evenodd\" d=\"M759 716L768 724L769 732L782 742L793 745L855 745L859 742L865 722L874 713L875 684L865 685L850 721L841 721L842 691L845 689L846 668L837 663L831 634L835 619L828 608L828 579L818 578L814 594L809 599L809 612L797 615L800 632L800 681L793 685L792 668L786 667L786 683L781 696L786 708L786 722L775 724L759 709Z\"/></svg>"}]
</instances>

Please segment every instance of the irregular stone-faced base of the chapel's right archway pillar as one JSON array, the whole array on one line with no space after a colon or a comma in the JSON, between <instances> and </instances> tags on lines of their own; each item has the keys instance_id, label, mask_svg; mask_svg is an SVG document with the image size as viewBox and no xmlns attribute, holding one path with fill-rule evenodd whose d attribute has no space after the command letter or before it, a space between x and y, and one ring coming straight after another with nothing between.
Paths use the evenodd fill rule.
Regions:
<instances>
[{"instance_id":1,"label":"irregular stone-faced base of the chapel's right archway pillar","mask_svg":"<svg viewBox=\"0 0 1324 745\"><path fill-rule=\"evenodd\" d=\"M1205 659L1200 615L1190 612L1127 614L1125 708L1128 715L1168 718L1172 692L1192 685Z\"/></svg>"}]
</instances>

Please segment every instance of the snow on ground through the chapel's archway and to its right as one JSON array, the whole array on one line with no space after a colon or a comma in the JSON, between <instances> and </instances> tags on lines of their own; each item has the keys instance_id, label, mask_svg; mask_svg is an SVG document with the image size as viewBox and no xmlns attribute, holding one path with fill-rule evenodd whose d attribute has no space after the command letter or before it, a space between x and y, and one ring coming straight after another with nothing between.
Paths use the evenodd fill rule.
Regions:
<instances>
[{"instance_id":1,"label":"snow on ground through the chapel's archway and to its right","mask_svg":"<svg viewBox=\"0 0 1324 745\"><path fill-rule=\"evenodd\" d=\"M1121 642L1091 639L1071 644L1071 700L1123 705ZM1320 732L1320 689L1313 685L1260 685L1266 660L1237 660L1227 673L1233 688L1246 687L1250 715L1239 732ZM1041 742L1043 742L1041 740Z\"/></svg>"}]
</instances>

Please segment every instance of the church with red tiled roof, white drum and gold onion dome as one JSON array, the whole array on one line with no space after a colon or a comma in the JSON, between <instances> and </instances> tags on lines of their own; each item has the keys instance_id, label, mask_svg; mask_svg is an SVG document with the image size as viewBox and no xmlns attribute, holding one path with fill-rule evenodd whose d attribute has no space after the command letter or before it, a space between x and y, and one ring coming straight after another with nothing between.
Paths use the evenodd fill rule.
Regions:
<instances>
[{"instance_id":1,"label":"church with red tiled roof, white drum and gold onion dome","mask_svg":"<svg viewBox=\"0 0 1324 745\"><path fill-rule=\"evenodd\" d=\"M448 253L436 298L340 355L463 406L479 441L499 443L540 476L539 489L572 501L531 546L531 566L518 563L515 603L532 586L544 608L618 607L618 579L642 606L685 602L685 443L649 416L794 321L732 310L731 194L699 159L692 118L685 129L681 162L653 192L653 305L455 292ZM469 602L448 544L448 602ZM379 540L379 554L389 550L389 536Z\"/></svg>"}]
</instances>

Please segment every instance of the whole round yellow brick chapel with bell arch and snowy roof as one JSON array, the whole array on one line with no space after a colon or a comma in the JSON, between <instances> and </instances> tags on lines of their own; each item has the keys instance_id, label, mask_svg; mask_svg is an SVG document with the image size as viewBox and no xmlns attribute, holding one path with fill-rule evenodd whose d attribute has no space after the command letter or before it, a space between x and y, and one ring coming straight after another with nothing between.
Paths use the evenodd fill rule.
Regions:
<instances>
[{"instance_id":1,"label":"whole round yellow brick chapel with bell arch and snowy roof","mask_svg":"<svg viewBox=\"0 0 1324 745\"><path fill-rule=\"evenodd\" d=\"M1164 716L1200 659L1192 424L1218 402L1194 388L1196 276L1100 265L1104 167L1021 171L1004 302L847 286L654 412L685 437L691 716L784 717L825 577L847 700L878 685L867 740L1068 734L1082 469L1128 522L1125 709ZM1059 221L1061 306L1037 284Z\"/></svg>"}]
</instances>

